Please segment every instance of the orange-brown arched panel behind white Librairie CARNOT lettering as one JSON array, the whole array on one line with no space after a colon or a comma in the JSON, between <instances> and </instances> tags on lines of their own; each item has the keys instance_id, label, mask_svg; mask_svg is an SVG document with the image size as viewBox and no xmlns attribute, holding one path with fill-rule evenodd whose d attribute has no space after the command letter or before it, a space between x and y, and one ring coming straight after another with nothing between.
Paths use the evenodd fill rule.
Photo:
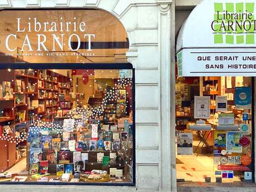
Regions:
<instances>
[{"instance_id":1,"label":"orange-brown arched panel behind white Librairie CARNOT lettering","mask_svg":"<svg viewBox=\"0 0 256 192\"><path fill-rule=\"evenodd\" d=\"M8 19L6 16L8 15ZM62 17L62 20L61 20ZM74 17L76 19L74 19ZM26 32L17 32L17 18L21 18L20 23L21 27L26 27ZM28 32L28 22L31 18L31 27L32 31ZM66 22L73 23L76 21L77 29L80 22L85 22L85 31L81 32L77 30L76 32L73 31L63 31L60 32L51 32L48 30L43 32L35 32L33 18L37 18L37 21L43 24L43 22L56 22L60 23L61 21L63 24ZM59 27L60 25L57 24ZM42 26L43 27L43 26ZM50 27L48 27L50 29ZM17 34L18 41L11 42L11 44L16 45L17 47L22 47L25 35L29 36L29 40L31 42L33 50L37 49L37 34L46 35L47 41L45 45L48 50L52 50L53 47L53 38L52 34L56 36L60 36L61 33L64 34L63 38L63 52L71 53L72 51L68 47L68 37L72 33L76 33L80 36L82 42L88 41L83 38L84 34L95 34L95 39L92 39L92 42L127 42L127 34L125 31L124 26L122 26L121 22L116 19L112 14L107 13L105 11L96 10L96 9L72 9L72 10L24 10L24 11L1 11L0 12L0 34L2 37L6 38L9 34ZM2 39L3 40L3 39ZM11 40L11 39L10 39ZM15 41L12 40L11 41ZM73 38L72 41L77 41L76 38ZM0 46L4 46L4 43L0 43ZM2 49L1 49L2 51ZM125 58L125 53L127 48L104 48L104 49L93 49L93 51L87 51L86 49L79 49L76 53L94 53L93 56L69 56L63 58L64 62L115 62L116 55L118 57ZM29 51L25 51L29 52ZM52 51L49 51L52 52ZM58 46L56 43L56 51L55 52L62 52L58 50ZM29 60L29 57L26 57ZM54 60L54 59L53 59ZM27 61L30 62L30 61ZM35 62L33 60L33 62Z\"/></svg>"}]
</instances>

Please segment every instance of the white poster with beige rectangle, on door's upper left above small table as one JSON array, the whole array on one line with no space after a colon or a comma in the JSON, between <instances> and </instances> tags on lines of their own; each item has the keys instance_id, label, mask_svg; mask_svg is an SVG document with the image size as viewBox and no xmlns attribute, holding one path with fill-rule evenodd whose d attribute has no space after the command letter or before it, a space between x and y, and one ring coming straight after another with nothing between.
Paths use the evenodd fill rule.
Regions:
<instances>
[{"instance_id":1,"label":"white poster with beige rectangle, on door's upper left above small table","mask_svg":"<svg viewBox=\"0 0 256 192\"><path fill-rule=\"evenodd\" d=\"M210 96L195 96L194 118L210 118Z\"/></svg>"}]
</instances>

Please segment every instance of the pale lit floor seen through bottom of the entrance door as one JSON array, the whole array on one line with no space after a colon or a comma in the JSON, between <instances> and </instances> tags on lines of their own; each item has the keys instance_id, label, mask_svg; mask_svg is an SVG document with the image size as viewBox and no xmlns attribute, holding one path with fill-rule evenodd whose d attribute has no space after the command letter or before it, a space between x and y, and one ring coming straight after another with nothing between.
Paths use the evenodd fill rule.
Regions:
<instances>
[{"instance_id":1,"label":"pale lit floor seen through bottom of the entrance door","mask_svg":"<svg viewBox=\"0 0 256 192\"><path fill-rule=\"evenodd\" d=\"M177 155L183 164L176 164L177 179L185 181L205 182L205 177L210 177L215 182L213 156L199 155ZM223 180L223 183L240 181L238 178Z\"/></svg>"}]
</instances>

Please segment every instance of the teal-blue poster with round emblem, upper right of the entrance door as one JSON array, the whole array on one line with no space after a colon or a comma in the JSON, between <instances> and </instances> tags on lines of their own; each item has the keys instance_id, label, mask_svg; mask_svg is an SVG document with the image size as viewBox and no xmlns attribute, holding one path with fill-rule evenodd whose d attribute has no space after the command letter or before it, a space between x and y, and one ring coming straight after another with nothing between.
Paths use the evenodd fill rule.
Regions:
<instances>
[{"instance_id":1,"label":"teal-blue poster with round emblem, upper right of the entrance door","mask_svg":"<svg viewBox=\"0 0 256 192\"><path fill-rule=\"evenodd\" d=\"M251 87L235 87L235 106L250 109L252 104Z\"/></svg>"}]
</instances>

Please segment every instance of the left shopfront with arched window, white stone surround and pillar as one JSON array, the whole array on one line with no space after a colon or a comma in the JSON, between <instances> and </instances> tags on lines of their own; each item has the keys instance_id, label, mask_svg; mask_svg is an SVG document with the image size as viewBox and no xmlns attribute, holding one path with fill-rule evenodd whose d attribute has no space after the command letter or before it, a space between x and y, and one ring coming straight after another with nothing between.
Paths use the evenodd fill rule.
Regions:
<instances>
[{"instance_id":1,"label":"left shopfront with arched window, white stone surround and pillar","mask_svg":"<svg viewBox=\"0 0 256 192\"><path fill-rule=\"evenodd\" d=\"M0 191L170 191L173 8L138 2L0 1Z\"/></svg>"}]
</instances>

